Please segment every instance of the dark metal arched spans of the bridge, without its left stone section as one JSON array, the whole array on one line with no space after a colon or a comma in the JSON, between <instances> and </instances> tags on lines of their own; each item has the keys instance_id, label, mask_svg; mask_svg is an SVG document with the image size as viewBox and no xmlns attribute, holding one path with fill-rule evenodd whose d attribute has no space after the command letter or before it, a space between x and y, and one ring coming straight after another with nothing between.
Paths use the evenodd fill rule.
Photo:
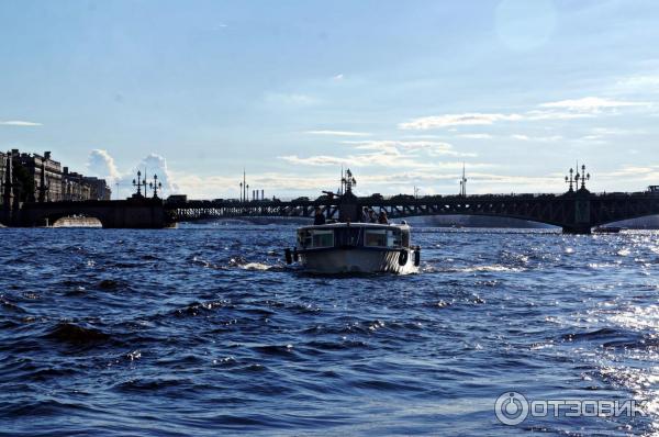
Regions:
<instances>
[{"instance_id":1,"label":"dark metal arched spans of the bridge, without its left stone section","mask_svg":"<svg viewBox=\"0 0 659 437\"><path fill-rule=\"evenodd\" d=\"M659 192L517 195L433 195L391 199L356 198L350 206L386 211L389 218L424 215L483 215L520 218L560 226L565 233L590 234L595 226L659 214ZM313 217L315 209L332 220L346 208L339 199L316 201L187 201L171 202L165 210L171 222L242 216Z\"/></svg>"}]
</instances>

